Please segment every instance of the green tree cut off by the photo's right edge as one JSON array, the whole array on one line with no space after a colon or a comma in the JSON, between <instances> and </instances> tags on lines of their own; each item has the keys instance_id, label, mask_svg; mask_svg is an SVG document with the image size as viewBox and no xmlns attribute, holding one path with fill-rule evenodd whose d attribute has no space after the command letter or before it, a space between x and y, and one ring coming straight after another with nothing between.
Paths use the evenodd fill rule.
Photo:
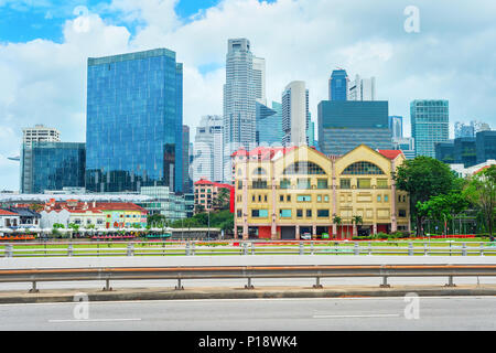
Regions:
<instances>
[{"instance_id":1,"label":"green tree cut off by the photo's right edge","mask_svg":"<svg viewBox=\"0 0 496 353\"><path fill-rule=\"evenodd\" d=\"M490 168L468 178L463 195L476 205L484 215L493 242L496 207L496 165L490 165Z\"/></svg>"}]
</instances>

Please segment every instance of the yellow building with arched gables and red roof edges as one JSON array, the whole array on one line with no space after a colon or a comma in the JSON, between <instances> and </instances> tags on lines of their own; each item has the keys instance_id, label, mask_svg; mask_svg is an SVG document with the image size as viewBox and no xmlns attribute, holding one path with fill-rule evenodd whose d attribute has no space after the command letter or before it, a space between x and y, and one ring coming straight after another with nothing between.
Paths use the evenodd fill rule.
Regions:
<instances>
[{"instance_id":1,"label":"yellow building with arched gables and red roof edges","mask_svg":"<svg viewBox=\"0 0 496 353\"><path fill-rule=\"evenodd\" d=\"M239 150L233 159L236 236L351 238L410 231L408 194L391 178L406 160L401 151L360 145L327 157L303 146Z\"/></svg>"}]
</instances>

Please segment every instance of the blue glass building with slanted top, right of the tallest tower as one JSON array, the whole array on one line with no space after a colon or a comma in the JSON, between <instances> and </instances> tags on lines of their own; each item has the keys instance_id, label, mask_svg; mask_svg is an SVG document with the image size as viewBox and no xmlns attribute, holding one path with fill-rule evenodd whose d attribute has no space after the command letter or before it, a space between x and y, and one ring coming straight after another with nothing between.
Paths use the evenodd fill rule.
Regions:
<instances>
[{"instance_id":1,"label":"blue glass building with slanted top, right of the tallest tower","mask_svg":"<svg viewBox=\"0 0 496 353\"><path fill-rule=\"evenodd\" d=\"M257 101L257 145L282 146L281 104L272 101L272 108Z\"/></svg>"}]
</instances>

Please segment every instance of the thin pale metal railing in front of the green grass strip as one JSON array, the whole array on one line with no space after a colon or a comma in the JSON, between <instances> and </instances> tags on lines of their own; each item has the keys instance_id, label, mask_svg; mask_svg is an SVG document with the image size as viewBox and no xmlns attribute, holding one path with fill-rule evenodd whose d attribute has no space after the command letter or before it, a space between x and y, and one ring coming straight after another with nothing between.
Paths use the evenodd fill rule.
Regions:
<instances>
[{"instance_id":1,"label":"thin pale metal railing in front of the green grass strip","mask_svg":"<svg viewBox=\"0 0 496 353\"><path fill-rule=\"evenodd\" d=\"M324 243L324 245L323 245ZM334 245L330 245L334 243ZM406 243L406 242L405 242ZM281 245L282 244L282 245ZM294 245L293 245L294 244ZM440 246L442 245L442 246ZM55 247L56 246L56 247ZM496 255L496 244L479 242L409 242L373 246L364 242L72 242L0 244L0 257L47 256L195 256L195 255Z\"/></svg>"}]
</instances>

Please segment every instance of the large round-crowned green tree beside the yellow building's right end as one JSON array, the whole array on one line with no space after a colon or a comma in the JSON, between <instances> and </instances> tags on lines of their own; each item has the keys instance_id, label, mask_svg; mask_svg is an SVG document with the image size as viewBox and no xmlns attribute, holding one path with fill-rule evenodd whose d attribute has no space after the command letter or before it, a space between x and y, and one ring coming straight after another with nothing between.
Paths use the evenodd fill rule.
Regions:
<instances>
[{"instance_id":1,"label":"large round-crowned green tree beside the yellow building's right end","mask_svg":"<svg viewBox=\"0 0 496 353\"><path fill-rule=\"evenodd\" d=\"M392 179L399 190L410 195L410 210L417 221L417 236L422 233L425 220L425 215L419 212L418 204L432 196L450 193L456 184L456 176L448 164L425 156L406 160L392 173Z\"/></svg>"}]
</instances>

